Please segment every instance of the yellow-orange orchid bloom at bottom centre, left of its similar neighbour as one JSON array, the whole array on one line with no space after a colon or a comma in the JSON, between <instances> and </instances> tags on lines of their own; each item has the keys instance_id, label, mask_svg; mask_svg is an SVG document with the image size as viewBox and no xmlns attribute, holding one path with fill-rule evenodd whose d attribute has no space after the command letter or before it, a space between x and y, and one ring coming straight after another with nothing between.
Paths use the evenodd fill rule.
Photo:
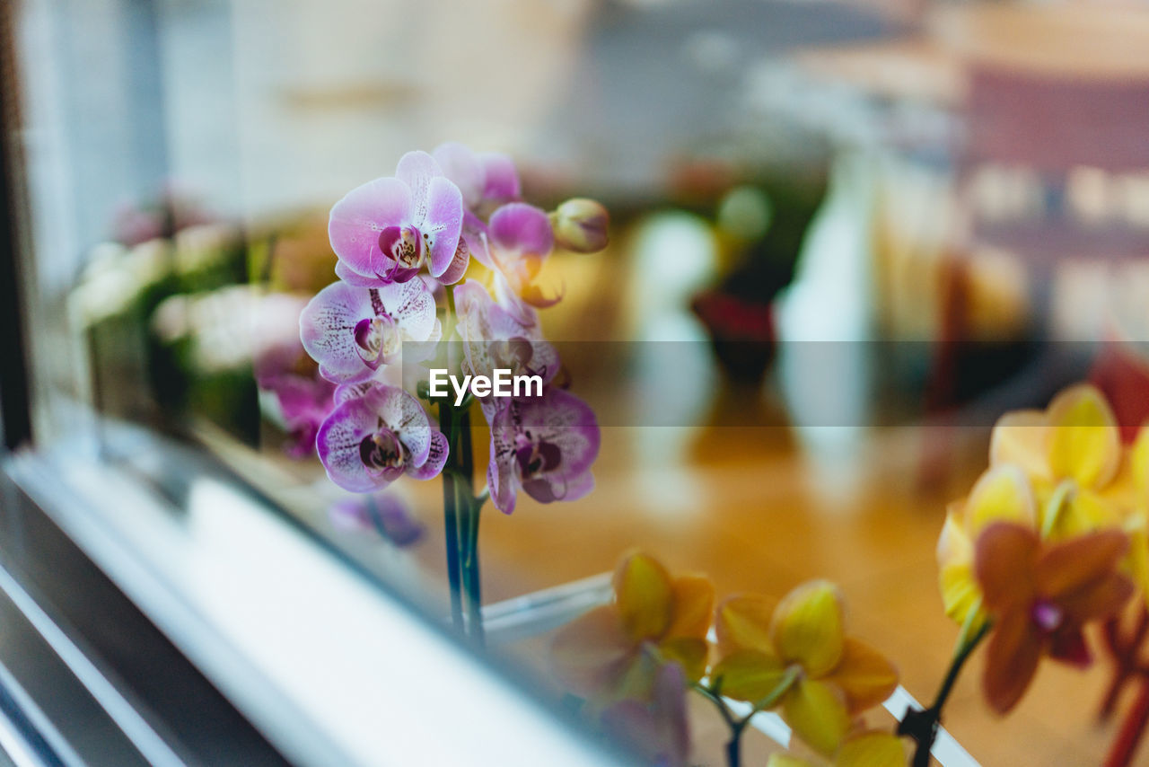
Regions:
<instances>
[{"instance_id":1,"label":"yellow-orange orchid bloom at bottom centre, left of its similar neighbour","mask_svg":"<svg viewBox=\"0 0 1149 767\"><path fill-rule=\"evenodd\" d=\"M705 674L714 586L696 575L671 577L653 557L627 555L614 577L615 598L560 629L550 645L558 678L599 700L642 698L651 657L681 665L687 682Z\"/></svg>"}]
</instances>

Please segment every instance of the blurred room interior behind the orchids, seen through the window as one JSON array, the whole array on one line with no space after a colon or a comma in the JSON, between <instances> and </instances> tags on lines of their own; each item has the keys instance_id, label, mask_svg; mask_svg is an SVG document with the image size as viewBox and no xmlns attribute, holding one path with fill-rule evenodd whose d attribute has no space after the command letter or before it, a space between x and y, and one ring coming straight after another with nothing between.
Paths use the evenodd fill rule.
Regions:
<instances>
[{"instance_id":1,"label":"blurred room interior behind the orchids, seen through the window","mask_svg":"<svg viewBox=\"0 0 1149 767\"><path fill-rule=\"evenodd\" d=\"M1084 378L1149 415L1143 2L23 0L14 30L38 439L147 468L116 435L173 436L426 604L438 485L372 522L257 385L334 278L331 205L408 149L507 152L526 199L612 217L543 316L597 489L486 515L489 603L632 546L719 593L831 577L925 699L935 538L997 415ZM545 675L542 645L506 651ZM1050 669L994 722L970 674L946 724L1088 761L1109 733L1062 701L1103 682Z\"/></svg>"}]
</instances>

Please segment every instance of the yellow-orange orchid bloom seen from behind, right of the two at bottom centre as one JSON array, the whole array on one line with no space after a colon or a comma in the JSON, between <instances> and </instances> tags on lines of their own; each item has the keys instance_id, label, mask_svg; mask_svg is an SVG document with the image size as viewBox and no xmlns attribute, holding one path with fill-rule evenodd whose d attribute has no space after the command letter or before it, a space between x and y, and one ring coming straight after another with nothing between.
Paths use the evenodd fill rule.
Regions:
<instances>
[{"instance_id":1,"label":"yellow-orange orchid bloom seen from behind, right of the two at bottom centre","mask_svg":"<svg viewBox=\"0 0 1149 767\"><path fill-rule=\"evenodd\" d=\"M758 596L718 606L720 660L711 680L722 695L778 706L794 733L833 754L862 711L897 687L897 670L877 650L847 637L841 595L826 581L791 591L777 607Z\"/></svg>"}]
</instances>

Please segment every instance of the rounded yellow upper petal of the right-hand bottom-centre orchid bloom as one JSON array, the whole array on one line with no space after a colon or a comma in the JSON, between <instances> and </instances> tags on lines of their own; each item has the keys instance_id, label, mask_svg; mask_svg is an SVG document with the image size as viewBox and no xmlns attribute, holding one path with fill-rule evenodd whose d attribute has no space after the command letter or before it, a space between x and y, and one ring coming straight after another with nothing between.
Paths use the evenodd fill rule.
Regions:
<instances>
[{"instance_id":1,"label":"rounded yellow upper petal of the right-hand bottom-centre orchid bloom","mask_svg":"<svg viewBox=\"0 0 1149 767\"><path fill-rule=\"evenodd\" d=\"M808 675L817 678L842 657L843 622L838 586L828 581L810 581L778 605L770 636L784 660L801 664Z\"/></svg>"}]
</instances>

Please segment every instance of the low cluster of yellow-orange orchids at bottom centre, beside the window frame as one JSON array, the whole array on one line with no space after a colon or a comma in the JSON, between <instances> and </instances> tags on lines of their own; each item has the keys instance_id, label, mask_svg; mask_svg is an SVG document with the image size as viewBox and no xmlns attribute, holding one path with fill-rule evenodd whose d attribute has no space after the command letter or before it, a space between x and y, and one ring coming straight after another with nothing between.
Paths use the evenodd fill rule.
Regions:
<instances>
[{"instance_id":1,"label":"low cluster of yellow-orange orchids at bottom centre, beside the window frame","mask_svg":"<svg viewBox=\"0 0 1149 767\"><path fill-rule=\"evenodd\" d=\"M704 577L672 577L647 554L626 557L614 578L614 600L574 620L552 643L560 680L602 712L635 712L631 733L658 764L687 764L685 722L669 700L665 667L678 669L676 692L693 688L720 707L737 744L746 720L726 699L778 710L795 735L834 764L904 765L901 742L865 730L862 715L897 687L897 672L877 650L847 636L841 595L825 581L802 584L780 603L757 595L730 597L715 607ZM716 642L708 639L714 628ZM625 705L624 705L625 704ZM638 716L637 712L642 712ZM651 733L673 733L655 747ZM896 753L896 759L889 754ZM787 756L784 764L805 764ZM771 762L776 764L776 762Z\"/></svg>"}]
</instances>

